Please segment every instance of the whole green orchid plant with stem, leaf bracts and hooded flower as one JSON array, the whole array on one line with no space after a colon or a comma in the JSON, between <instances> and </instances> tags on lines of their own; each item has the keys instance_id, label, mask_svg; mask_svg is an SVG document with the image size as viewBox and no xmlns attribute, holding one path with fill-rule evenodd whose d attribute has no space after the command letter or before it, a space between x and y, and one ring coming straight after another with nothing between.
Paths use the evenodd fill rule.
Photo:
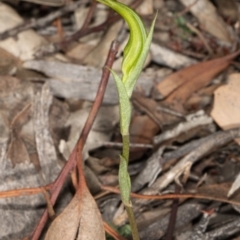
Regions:
<instances>
[{"instance_id":1,"label":"whole green orchid plant with stem, leaf bracts and hooded flower","mask_svg":"<svg viewBox=\"0 0 240 240\"><path fill-rule=\"evenodd\" d=\"M118 12L128 23L130 29L129 40L123 52L122 77L120 78L113 70L110 69L110 71L114 77L119 95L120 129L123 141L123 149L122 154L120 155L119 165L121 199L128 213L133 239L139 239L130 200L131 181L128 174L129 126L131 120L130 98L149 52L156 17L153 20L149 33L147 34L140 17L128 6L115 0L97 1Z\"/></svg>"}]
</instances>

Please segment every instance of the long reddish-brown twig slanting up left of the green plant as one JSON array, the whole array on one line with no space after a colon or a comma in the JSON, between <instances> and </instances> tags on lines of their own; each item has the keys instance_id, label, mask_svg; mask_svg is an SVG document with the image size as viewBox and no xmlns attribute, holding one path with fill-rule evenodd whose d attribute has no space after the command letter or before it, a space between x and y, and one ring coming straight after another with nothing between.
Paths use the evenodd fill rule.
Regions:
<instances>
[{"instance_id":1,"label":"long reddish-brown twig slanting up left of the green plant","mask_svg":"<svg viewBox=\"0 0 240 240\"><path fill-rule=\"evenodd\" d=\"M72 171L75 167L76 167L76 154L77 154L77 149L80 150L83 148L85 142L86 142L86 138L88 136L89 131L91 130L93 121L97 115L98 109L102 103L103 100L103 96L104 96L104 92L108 83L108 78L109 78L109 70L108 68L112 67L112 64L114 62L116 53L118 51L118 43L117 42L113 42L106 60L106 64L105 64L105 68L103 69L103 74L102 74L102 79L98 88L98 92L95 98L95 101L93 103L92 109L89 113L88 119L85 123L85 126L81 132L81 135L79 137L79 140L74 148L74 150L72 151L69 160L67 161L66 165L64 166L64 168L62 169L62 171L60 172L58 178L56 179L56 181L53 183L52 188L50 190L51 193L51 204L54 205L57 197L62 189L63 184L65 183L67 176L69 174L70 171ZM79 153L81 154L81 153ZM48 219L48 212L47 210L44 211L38 225L36 226L34 232L31 235L31 239L32 240L37 240L42 232L43 227L46 224L46 221Z\"/></svg>"}]
</instances>

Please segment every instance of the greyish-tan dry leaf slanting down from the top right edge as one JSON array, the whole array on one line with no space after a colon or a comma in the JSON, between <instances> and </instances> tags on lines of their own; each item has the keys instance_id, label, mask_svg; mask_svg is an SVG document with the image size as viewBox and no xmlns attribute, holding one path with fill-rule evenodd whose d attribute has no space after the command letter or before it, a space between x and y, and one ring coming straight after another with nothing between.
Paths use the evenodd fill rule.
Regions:
<instances>
[{"instance_id":1,"label":"greyish-tan dry leaf slanting down from the top right edge","mask_svg":"<svg viewBox=\"0 0 240 240\"><path fill-rule=\"evenodd\" d=\"M225 42L231 43L233 41L227 24L209 0L181 0L181 2L185 7L189 7L190 12L207 32Z\"/></svg>"}]
</instances>

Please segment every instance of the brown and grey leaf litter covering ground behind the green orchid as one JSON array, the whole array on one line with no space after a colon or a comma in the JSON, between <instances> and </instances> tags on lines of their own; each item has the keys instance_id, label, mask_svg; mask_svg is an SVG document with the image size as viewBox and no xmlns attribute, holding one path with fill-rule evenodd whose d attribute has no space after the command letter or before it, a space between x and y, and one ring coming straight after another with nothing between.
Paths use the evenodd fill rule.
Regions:
<instances>
[{"instance_id":1,"label":"brown and grey leaf litter covering ground behind the green orchid","mask_svg":"<svg viewBox=\"0 0 240 240\"><path fill-rule=\"evenodd\" d=\"M136 8L148 27L159 11L132 98L129 172L140 238L238 239L239 3L122 2ZM100 4L64 4L0 3L0 239L36 239L48 195L52 204L51 184L74 153L116 38L114 70L120 70L126 25ZM104 229L112 235L107 239L129 237L116 232L128 228L116 194L118 121L110 77L81 152L87 185L75 190L80 178L70 172L50 206L56 216L39 239L105 239Z\"/></svg>"}]
</instances>

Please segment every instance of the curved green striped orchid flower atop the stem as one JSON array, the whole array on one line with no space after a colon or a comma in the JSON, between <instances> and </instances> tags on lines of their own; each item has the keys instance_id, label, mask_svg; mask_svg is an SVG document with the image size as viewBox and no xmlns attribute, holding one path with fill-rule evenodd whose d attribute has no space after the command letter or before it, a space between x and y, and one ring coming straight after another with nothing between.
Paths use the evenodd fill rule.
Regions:
<instances>
[{"instance_id":1,"label":"curved green striped orchid flower atop the stem","mask_svg":"<svg viewBox=\"0 0 240 240\"><path fill-rule=\"evenodd\" d=\"M123 52L122 82L124 83L128 97L130 98L149 52L157 15L155 16L149 34L147 35L142 20L134 10L115 0L97 1L118 12L129 26L130 36Z\"/></svg>"}]
</instances>

